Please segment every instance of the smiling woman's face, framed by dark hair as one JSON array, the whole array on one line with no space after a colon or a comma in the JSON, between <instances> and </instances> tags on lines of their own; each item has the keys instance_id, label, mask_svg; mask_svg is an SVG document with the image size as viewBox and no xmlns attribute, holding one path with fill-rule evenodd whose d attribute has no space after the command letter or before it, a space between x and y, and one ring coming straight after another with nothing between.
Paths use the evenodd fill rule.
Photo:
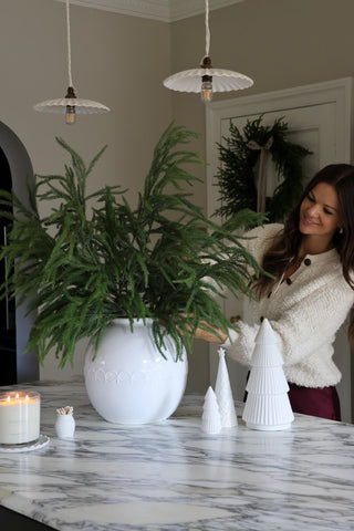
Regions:
<instances>
[{"instance_id":1,"label":"smiling woman's face, framed by dark hair","mask_svg":"<svg viewBox=\"0 0 354 531\"><path fill-rule=\"evenodd\" d=\"M335 188L319 183L303 199L300 207L300 232L322 237L330 242L341 227L340 202Z\"/></svg>"}]
</instances>

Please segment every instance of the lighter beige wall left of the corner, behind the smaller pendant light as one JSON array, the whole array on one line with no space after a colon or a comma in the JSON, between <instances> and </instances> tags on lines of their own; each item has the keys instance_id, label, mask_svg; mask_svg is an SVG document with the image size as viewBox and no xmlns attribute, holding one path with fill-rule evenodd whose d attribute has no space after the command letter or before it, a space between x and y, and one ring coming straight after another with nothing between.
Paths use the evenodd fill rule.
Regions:
<instances>
[{"instance_id":1,"label":"lighter beige wall left of the corner, behind the smaller pendant light","mask_svg":"<svg viewBox=\"0 0 354 531\"><path fill-rule=\"evenodd\" d=\"M71 6L72 74L77 96L112 108L104 115L42 114L33 104L63 97L67 86L65 3L54 0L1 0L1 115L24 144L35 173L62 173L67 156L54 137L69 142L85 160L107 144L91 188L121 184L139 189L153 148L171 119L169 25L137 17ZM44 212L44 210L42 209ZM77 348L74 373L81 373ZM41 377L72 375L46 358Z\"/></svg>"}]
</instances>

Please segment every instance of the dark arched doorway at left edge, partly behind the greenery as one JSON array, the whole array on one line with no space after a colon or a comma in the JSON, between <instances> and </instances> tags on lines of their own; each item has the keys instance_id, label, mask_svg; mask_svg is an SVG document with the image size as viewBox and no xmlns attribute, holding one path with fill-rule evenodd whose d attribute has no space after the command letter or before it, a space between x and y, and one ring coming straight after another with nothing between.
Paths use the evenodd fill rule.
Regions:
<instances>
[{"instance_id":1,"label":"dark arched doorway at left edge, partly behind the greenery","mask_svg":"<svg viewBox=\"0 0 354 531\"><path fill-rule=\"evenodd\" d=\"M10 190L29 205L27 180L33 179L29 154L19 137L6 124L0 122L0 186ZM6 242L8 222L0 219L0 242ZM6 264L0 266L3 278ZM2 280L1 280L2 282ZM39 379L39 364L34 353L23 354L35 315L25 315L23 305L15 306L7 298L0 308L0 385Z\"/></svg>"}]
</instances>

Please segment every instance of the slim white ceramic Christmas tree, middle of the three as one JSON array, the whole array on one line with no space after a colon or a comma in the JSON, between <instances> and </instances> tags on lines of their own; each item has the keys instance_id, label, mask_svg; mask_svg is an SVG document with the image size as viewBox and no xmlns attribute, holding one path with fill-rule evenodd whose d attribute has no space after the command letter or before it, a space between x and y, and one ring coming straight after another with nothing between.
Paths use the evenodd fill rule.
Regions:
<instances>
[{"instance_id":1,"label":"slim white ceramic Christmas tree, middle of the three","mask_svg":"<svg viewBox=\"0 0 354 531\"><path fill-rule=\"evenodd\" d=\"M221 427L231 428L232 426L237 426L237 415L232 397L232 389L230 385L229 372L225 360L225 348L219 348L218 353L219 367L215 394L218 400Z\"/></svg>"}]
</instances>

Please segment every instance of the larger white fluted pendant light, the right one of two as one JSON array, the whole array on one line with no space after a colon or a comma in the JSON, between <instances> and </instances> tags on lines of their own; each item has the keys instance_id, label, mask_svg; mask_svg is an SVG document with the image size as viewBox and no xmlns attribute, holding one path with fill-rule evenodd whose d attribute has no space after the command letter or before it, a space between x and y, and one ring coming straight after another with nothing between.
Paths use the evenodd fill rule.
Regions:
<instances>
[{"instance_id":1,"label":"larger white fluted pendant light, the right one of two","mask_svg":"<svg viewBox=\"0 0 354 531\"><path fill-rule=\"evenodd\" d=\"M209 1L206 0L206 55L199 69L185 70L170 75L164 81L167 88L179 92L200 92L205 103L211 102L214 92L229 92L249 88L253 81L247 75L231 70L214 69L209 56Z\"/></svg>"}]
</instances>

